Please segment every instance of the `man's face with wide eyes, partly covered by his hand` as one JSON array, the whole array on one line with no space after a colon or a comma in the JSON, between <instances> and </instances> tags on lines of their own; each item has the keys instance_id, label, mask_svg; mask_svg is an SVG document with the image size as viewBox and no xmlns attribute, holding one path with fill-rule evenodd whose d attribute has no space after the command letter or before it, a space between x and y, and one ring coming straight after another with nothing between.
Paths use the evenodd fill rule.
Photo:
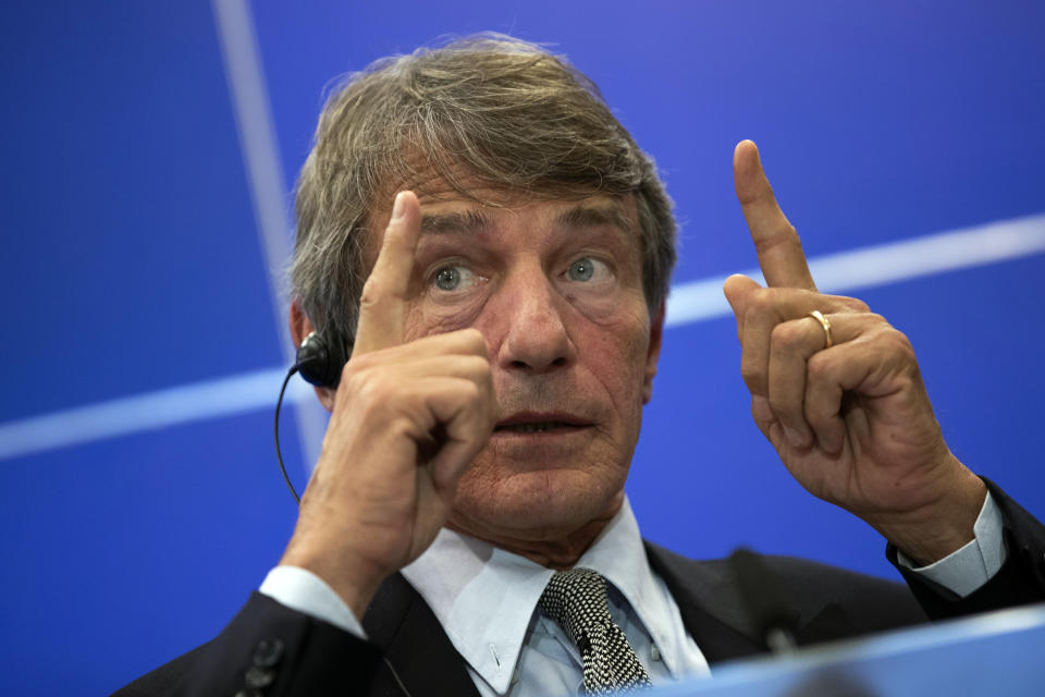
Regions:
<instances>
[{"instance_id":1,"label":"man's face with wide eyes, partly covered by his hand","mask_svg":"<svg viewBox=\"0 0 1045 697\"><path fill-rule=\"evenodd\" d=\"M660 350L630 197L489 207L421 196L406 341L472 327L497 425L450 525L557 540L616 512Z\"/></svg>"}]
</instances>

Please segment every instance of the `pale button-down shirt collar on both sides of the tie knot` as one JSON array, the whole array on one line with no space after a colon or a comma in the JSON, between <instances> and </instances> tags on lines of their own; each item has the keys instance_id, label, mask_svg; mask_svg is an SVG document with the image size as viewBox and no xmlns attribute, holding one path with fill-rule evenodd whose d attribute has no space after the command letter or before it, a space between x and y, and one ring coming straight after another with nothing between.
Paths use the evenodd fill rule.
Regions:
<instances>
[{"instance_id":1,"label":"pale button-down shirt collar on both sides of the tie knot","mask_svg":"<svg viewBox=\"0 0 1045 697\"><path fill-rule=\"evenodd\" d=\"M627 499L577 566L599 572L620 591L661 648L664 664L677 676L669 609L657 592ZM537 602L553 573L525 557L445 528L403 568L457 652L499 694L511 685Z\"/></svg>"}]
</instances>

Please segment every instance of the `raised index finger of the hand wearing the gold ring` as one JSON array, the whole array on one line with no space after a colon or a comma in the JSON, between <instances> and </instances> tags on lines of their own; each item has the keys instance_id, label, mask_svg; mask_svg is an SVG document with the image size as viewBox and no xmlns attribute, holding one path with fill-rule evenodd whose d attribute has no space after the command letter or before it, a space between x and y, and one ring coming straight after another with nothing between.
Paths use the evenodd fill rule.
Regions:
<instances>
[{"instance_id":1,"label":"raised index finger of the hand wearing the gold ring","mask_svg":"<svg viewBox=\"0 0 1045 697\"><path fill-rule=\"evenodd\" d=\"M770 180L762 170L759 148L751 140L738 143L733 154L733 183L765 282L815 291L798 233L776 204Z\"/></svg>"}]
</instances>

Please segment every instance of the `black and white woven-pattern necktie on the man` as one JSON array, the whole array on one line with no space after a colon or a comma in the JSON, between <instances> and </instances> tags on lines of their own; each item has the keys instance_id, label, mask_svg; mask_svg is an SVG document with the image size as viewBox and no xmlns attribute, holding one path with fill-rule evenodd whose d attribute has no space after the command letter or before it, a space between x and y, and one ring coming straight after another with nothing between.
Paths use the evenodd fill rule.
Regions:
<instances>
[{"instance_id":1,"label":"black and white woven-pattern necktie on the man","mask_svg":"<svg viewBox=\"0 0 1045 697\"><path fill-rule=\"evenodd\" d=\"M557 572L539 603L580 649L583 689L611 695L649 687L650 676L610 616L606 579L590 568Z\"/></svg>"}]
</instances>

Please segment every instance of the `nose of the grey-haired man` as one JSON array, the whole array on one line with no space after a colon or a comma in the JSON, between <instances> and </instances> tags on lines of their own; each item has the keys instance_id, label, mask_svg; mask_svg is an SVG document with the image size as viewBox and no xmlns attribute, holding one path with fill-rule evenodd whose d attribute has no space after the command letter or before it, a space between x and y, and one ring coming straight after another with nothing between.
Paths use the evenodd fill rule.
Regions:
<instances>
[{"instance_id":1,"label":"nose of the grey-haired man","mask_svg":"<svg viewBox=\"0 0 1045 697\"><path fill-rule=\"evenodd\" d=\"M503 340L497 363L507 370L543 374L570 365L576 347L563 313L568 303L542 269L519 271L500 289Z\"/></svg>"}]
</instances>

